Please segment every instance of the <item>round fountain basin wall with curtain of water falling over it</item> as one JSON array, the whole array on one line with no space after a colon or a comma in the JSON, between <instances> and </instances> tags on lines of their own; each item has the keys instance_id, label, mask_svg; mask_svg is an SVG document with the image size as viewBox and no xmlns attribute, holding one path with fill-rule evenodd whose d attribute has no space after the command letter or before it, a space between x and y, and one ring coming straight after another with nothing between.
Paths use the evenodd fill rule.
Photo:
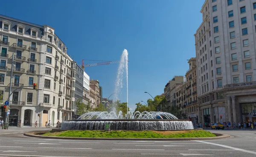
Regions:
<instances>
[{"instance_id":1,"label":"round fountain basin wall with curtain of water falling over it","mask_svg":"<svg viewBox=\"0 0 256 157\"><path fill-rule=\"evenodd\" d=\"M187 130L192 122L180 119L76 119L61 124L61 130Z\"/></svg>"}]
</instances>

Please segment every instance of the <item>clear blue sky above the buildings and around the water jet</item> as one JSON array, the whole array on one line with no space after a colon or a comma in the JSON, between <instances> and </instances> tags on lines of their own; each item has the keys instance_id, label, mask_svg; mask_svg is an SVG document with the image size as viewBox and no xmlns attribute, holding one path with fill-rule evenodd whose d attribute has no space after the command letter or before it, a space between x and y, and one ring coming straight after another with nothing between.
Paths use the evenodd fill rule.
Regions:
<instances>
[{"instance_id":1,"label":"clear blue sky above the buildings and around the water jet","mask_svg":"<svg viewBox=\"0 0 256 157\"><path fill-rule=\"evenodd\" d=\"M55 28L77 63L119 60L129 53L129 106L163 93L173 76L185 75L195 57L194 33L204 0L5 0L0 14ZM6 12L5 12L6 11ZM85 63L94 63L87 61ZM86 67L103 97L114 91L118 64ZM113 98L113 97L111 97ZM110 98L110 99L111 99ZM121 102L126 102L123 89Z\"/></svg>"}]
</instances>

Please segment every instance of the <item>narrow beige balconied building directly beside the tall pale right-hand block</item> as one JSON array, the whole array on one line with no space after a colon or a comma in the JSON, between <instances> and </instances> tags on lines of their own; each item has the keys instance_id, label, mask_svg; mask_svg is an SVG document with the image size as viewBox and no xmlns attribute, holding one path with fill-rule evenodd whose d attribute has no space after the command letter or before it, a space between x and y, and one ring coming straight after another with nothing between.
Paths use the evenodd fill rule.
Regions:
<instances>
[{"instance_id":1,"label":"narrow beige balconied building directly beside the tall pale right-hand block","mask_svg":"<svg viewBox=\"0 0 256 157\"><path fill-rule=\"evenodd\" d=\"M188 61L189 70L186 72L186 110L187 119L193 123L198 122L198 98L197 98L197 77L196 77L196 58L190 58ZM206 76L204 76L206 77ZM208 77L208 76L207 76Z\"/></svg>"}]
</instances>

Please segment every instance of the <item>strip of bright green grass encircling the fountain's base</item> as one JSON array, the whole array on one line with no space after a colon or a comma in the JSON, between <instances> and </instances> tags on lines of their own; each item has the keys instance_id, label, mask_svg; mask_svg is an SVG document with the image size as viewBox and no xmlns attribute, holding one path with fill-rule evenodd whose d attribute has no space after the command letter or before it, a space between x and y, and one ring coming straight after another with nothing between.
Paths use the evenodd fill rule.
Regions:
<instances>
[{"instance_id":1,"label":"strip of bright green grass encircling the fountain's base","mask_svg":"<svg viewBox=\"0 0 256 157\"><path fill-rule=\"evenodd\" d=\"M56 137L102 137L102 138L185 138L185 137L215 137L209 131L49 131L43 136Z\"/></svg>"}]
</instances>

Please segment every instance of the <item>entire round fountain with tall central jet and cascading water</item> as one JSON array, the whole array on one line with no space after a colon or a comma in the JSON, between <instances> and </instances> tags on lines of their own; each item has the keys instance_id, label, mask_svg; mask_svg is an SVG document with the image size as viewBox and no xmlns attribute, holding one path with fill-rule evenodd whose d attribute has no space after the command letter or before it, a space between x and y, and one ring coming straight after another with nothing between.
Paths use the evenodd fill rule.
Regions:
<instances>
[{"instance_id":1,"label":"entire round fountain with tall central jet and cascading water","mask_svg":"<svg viewBox=\"0 0 256 157\"><path fill-rule=\"evenodd\" d=\"M81 115L76 120L64 121L62 130L105 130L109 126L110 130L186 130L193 129L192 122L177 119L176 116L166 112L135 113L128 112L128 52L125 49L121 55L120 64L115 83L114 99L118 100L118 95L123 87L124 73L126 73L127 85L127 114L125 119L122 111L116 114L116 108L108 112L88 112Z\"/></svg>"}]
</instances>

